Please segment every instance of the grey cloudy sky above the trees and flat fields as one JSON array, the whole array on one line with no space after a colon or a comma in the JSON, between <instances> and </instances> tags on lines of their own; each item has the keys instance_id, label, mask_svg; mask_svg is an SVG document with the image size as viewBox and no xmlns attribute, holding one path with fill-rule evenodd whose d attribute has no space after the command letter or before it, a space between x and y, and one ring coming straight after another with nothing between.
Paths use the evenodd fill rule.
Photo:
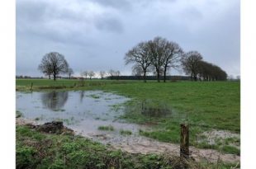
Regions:
<instances>
[{"instance_id":1,"label":"grey cloudy sky above the trees and flat fields","mask_svg":"<svg viewBox=\"0 0 256 169\"><path fill-rule=\"evenodd\" d=\"M130 75L126 52L162 36L236 76L239 7L239 0L17 0L17 75L42 76L38 64L51 51L64 54L76 75Z\"/></svg>"}]
</instances>

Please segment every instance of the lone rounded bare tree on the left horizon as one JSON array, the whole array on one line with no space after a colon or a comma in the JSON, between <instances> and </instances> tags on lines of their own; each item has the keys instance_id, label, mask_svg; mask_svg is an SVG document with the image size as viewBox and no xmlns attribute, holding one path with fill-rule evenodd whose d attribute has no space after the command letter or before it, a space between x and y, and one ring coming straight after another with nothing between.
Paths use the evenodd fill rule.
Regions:
<instances>
[{"instance_id":1,"label":"lone rounded bare tree on the left horizon","mask_svg":"<svg viewBox=\"0 0 256 169\"><path fill-rule=\"evenodd\" d=\"M57 52L50 52L49 54L45 54L38 68L42 73L48 73L48 75L53 74L54 80L56 80L58 74L67 73L69 64L64 59L64 55Z\"/></svg>"}]
</instances>

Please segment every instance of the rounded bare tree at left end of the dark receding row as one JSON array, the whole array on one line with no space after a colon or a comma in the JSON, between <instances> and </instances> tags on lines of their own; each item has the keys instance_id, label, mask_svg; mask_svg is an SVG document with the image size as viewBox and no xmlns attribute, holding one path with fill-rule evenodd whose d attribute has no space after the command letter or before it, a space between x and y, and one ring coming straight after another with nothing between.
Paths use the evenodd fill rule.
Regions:
<instances>
[{"instance_id":1,"label":"rounded bare tree at left end of the dark receding row","mask_svg":"<svg viewBox=\"0 0 256 169\"><path fill-rule=\"evenodd\" d=\"M190 51L183 55L183 70L191 75L191 79L197 81L197 74L200 71L202 57L197 51Z\"/></svg>"}]
</instances>

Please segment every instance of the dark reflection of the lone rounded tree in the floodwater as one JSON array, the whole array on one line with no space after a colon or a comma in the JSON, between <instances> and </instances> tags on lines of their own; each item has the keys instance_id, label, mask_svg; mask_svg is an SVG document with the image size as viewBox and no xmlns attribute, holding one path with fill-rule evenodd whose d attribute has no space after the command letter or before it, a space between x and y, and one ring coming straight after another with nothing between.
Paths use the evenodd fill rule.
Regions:
<instances>
[{"instance_id":1,"label":"dark reflection of the lone rounded tree in the floodwater","mask_svg":"<svg viewBox=\"0 0 256 169\"><path fill-rule=\"evenodd\" d=\"M45 92L41 95L43 105L51 110L58 110L68 100L69 92Z\"/></svg>"}]
</instances>

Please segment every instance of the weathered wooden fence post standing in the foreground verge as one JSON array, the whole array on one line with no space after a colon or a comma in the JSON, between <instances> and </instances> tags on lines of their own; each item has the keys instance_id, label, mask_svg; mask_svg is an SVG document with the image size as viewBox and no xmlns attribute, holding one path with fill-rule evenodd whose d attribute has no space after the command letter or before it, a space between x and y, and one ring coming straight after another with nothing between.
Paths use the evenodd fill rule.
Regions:
<instances>
[{"instance_id":1,"label":"weathered wooden fence post standing in the foreground verge","mask_svg":"<svg viewBox=\"0 0 256 169\"><path fill-rule=\"evenodd\" d=\"M185 159L189 158L189 127L188 124L181 124L180 157L183 167L187 168Z\"/></svg>"}]
</instances>

